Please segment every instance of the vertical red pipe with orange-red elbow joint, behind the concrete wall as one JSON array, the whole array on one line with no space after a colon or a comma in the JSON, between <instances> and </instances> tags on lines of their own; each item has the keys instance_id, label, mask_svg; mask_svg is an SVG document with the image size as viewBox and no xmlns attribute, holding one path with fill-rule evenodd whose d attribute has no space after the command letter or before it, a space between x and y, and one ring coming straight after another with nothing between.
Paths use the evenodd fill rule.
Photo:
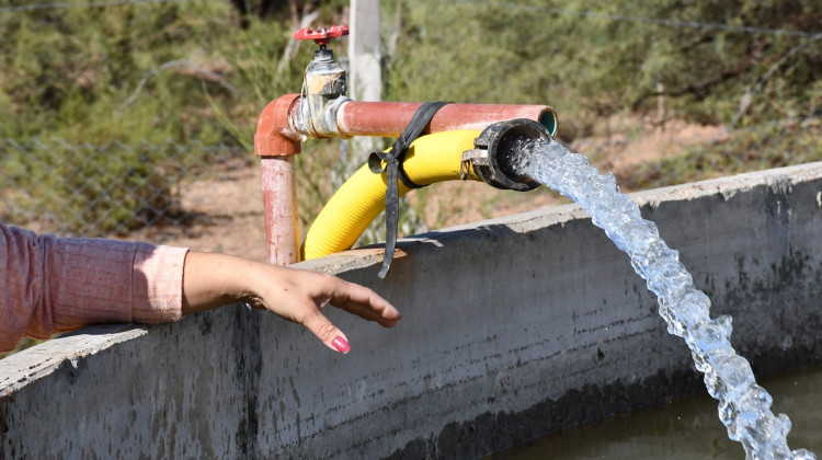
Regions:
<instances>
[{"instance_id":1,"label":"vertical red pipe with orange-red elbow joint, behind the concrete wall","mask_svg":"<svg viewBox=\"0 0 822 460\"><path fill-rule=\"evenodd\" d=\"M290 131L288 115L296 110L299 94L286 94L271 102L256 122L254 154L262 172L265 243L269 263L288 265L299 260L297 174L295 154L299 137Z\"/></svg>"}]
</instances>

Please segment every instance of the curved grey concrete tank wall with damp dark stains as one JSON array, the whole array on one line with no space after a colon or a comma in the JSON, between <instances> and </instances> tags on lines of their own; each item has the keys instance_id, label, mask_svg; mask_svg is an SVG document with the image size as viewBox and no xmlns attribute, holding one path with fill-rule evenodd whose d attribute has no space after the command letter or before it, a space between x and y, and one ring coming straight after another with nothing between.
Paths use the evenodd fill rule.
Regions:
<instances>
[{"instance_id":1,"label":"curved grey concrete tank wall with damp dark stains","mask_svg":"<svg viewBox=\"0 0 822 460\"><path fill-rule=\"evenodd\" d=\"M757 375L822 361L821 163L635 198L712 314L733 315ZM0 458L475 458L704 391L627 256L575 206L399 248L385 281L378 250L300 264L403 312L383 330L332 309L347 356L228 307L0 360Z\"/></svg>"}]
</instances>

